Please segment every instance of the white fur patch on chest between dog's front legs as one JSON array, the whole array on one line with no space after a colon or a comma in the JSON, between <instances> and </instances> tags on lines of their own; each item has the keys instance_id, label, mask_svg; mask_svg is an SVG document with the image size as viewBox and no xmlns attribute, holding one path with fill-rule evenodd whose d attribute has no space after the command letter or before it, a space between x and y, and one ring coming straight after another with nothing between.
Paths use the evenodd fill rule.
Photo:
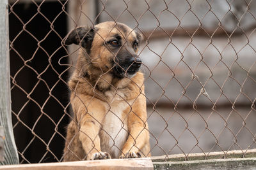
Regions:
<instances>
[{"instance_id":1,"label":"white fur patch on chest between dog's front legs","mask_svg":"<svg viewBox=\"0 0 256 170\"><path fill-rule=\"evenodd\" d=\"M127 106L129 105L124 102L111 104L111 108L102 122L102 137L107 140L101 139L100 141L104 142L106 152L114 155L115 158L120 155L120 150L128 136L127 115L123 113Z\"/></svg>"}]
</instances>

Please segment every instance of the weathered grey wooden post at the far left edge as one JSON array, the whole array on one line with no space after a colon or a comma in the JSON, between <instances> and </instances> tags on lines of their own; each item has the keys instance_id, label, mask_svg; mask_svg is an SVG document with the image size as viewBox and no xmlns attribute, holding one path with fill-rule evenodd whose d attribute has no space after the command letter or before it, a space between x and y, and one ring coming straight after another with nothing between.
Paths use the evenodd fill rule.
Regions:
<instances>
[{"instance_id":1,"label":"weathered grey wooden post at the far left edge","mask_svg":"<svg viewBox=\"0 0 256 170\"><path fill-rule=\"evenodd\" d=\"M4 161L19 164L14 141L10 99L10 55L8 31L8 0L0 1L0 125L4 128Z\"/></svg>"}]
</instances>

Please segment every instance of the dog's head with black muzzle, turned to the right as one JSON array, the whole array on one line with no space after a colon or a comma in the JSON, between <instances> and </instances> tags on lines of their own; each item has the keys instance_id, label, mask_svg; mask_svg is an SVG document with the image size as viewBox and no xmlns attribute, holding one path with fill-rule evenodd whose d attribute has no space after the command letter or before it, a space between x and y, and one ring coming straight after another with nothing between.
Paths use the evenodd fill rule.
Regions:
<instances>
[{"instance_id":1,"label":"dog's head with black muzzle, turned to the right","mask_svg":"<svg viewBox=\"0 0 256 170\"><path fill-rule=\"evenodd\" d=\"M65 45L80 45L94 69L124 78L132 77L140 69L138 46L141 38L141 34L125 24L102 22L94 27L74 29L67 35Z\"/></svg>"}]
</instances>

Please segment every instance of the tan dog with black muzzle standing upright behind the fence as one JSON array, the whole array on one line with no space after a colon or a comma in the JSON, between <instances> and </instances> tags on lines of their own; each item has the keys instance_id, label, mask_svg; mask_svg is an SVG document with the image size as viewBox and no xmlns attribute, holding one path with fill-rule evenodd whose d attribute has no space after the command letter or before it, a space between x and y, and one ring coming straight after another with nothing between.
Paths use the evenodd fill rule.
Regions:
<instances>
[{"instance_id":1,"label":"tan dog with black muzzle standing upright behind the fence","mask_svg":"<svg viewBox=\"0 0 256 170\"><path fill-rule=\"evenodd\" d=\"M150 156L141 39L118 22L77 27L64 39L80 51L68 81L74 118L63 161Z\"/></svg>"}]
</instances>

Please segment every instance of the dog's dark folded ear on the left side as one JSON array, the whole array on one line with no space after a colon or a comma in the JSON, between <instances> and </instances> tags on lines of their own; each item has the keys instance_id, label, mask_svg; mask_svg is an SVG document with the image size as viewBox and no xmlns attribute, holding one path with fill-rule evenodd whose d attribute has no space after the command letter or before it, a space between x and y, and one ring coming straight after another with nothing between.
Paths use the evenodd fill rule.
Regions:
<instances>
[{"instance_id":1,"label":"dog's dark folded ear on the left side","mask_svg":"<svg viewBox=\"0 0 256 170\"><path fill-rule=\"evenodd\" d=\"M68 33L64 39L64 45L81 45L88 52L92 46L94 34L94 27L78 27Z\"/></svg>"}]
</instances>

